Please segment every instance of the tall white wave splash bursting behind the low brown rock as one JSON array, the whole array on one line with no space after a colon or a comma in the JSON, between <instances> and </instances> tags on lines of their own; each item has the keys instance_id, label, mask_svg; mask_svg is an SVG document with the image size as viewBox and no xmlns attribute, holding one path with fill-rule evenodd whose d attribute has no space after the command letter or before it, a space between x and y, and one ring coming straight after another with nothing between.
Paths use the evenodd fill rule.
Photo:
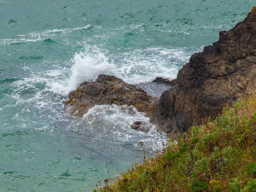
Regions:
<instances>
[{"instance_id":1,"label":"tall white wave splash bursting behind the low brown rock","mask_svg":"<svg viewBox=\"0 0 256 192\"><path fill-rule=\"evenodd\" d=\"M70 76L64 80L49 82L52 91L67 95L70 91L83 81L90 81L101 74L120 77L116 72L116 65L108 62L108 57L97 47L87 47L87 51L76 53L70 61L72 67L69 69ZM51 71L50 73L55 74Z\"/></svg>"}]
</instances>

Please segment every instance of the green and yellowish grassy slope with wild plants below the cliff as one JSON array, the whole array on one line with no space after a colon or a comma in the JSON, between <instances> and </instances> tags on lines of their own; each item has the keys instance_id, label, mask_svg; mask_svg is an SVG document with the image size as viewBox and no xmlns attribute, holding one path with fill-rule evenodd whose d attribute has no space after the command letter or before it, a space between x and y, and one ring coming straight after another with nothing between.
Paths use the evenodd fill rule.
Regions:
<instances>
[{"instance_id":1,"label":"green and yellowish grassy slope with wild plants below the cliff","mask_svg":"<svg viewBox=\"0 0 256 192\"><path fill-rule=\"evenodd\" d=\"M100 192L256 192L256 95L169 141ZM108 183L107 183L108 182Z\"/></svg>"}]
</instances>

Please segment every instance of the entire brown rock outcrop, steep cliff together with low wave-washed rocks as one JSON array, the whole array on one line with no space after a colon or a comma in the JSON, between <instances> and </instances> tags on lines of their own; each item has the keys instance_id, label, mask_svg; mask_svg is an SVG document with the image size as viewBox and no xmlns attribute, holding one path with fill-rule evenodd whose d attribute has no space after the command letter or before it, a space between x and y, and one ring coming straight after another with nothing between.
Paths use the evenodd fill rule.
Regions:
<instances>
[{"instance_id":1,"label":"entire brown rock outcrop, steep cliff together with low wave-washed rocks","mask_svg":"<svg viewBox=\"0 0 256 192\"><path fill-rule=\"evenodd\" d=\"M233 29L220 32L212 46L193 54L177 79L155 81L172 85L159 102L135 85L101 75L96 81L80 84L70 93L66 105L76 116L83 116L94 105L133 105L174 137L209 116L214 118L225 104L255 87L256 7ZM134 122L131 128L143 130L143 122Z\"/></svg>"}]
</instances>

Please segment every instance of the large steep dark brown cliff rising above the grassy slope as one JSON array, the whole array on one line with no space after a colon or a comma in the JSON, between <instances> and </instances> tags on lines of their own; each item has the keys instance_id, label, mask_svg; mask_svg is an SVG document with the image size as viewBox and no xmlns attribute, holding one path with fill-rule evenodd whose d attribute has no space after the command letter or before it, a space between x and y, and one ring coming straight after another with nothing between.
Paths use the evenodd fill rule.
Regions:
<instances>
[{"instance_id":1,"label":"large steep dark brown cliff rising above the grassy slope","mask_svg":"<svg viewBox=\"0 0 256 192\"><path fill-rule=\"evenodd\" d=\"M256 83L256 7L219 41L191 56L160 97L155 120L169 135L214 118Z\"/></svg>"}]
</instances>

